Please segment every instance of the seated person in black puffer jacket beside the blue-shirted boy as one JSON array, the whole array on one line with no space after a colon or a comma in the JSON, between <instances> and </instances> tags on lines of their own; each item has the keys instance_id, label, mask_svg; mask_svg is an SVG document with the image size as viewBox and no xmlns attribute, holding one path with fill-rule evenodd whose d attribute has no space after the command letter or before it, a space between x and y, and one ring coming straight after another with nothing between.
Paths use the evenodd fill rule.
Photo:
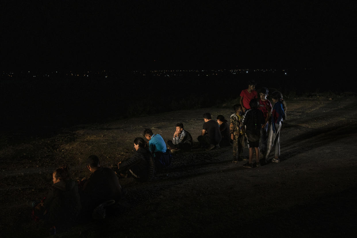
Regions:
<instances>
[{"instance_id":1,"label":"seated person in black puffer jacket beside the blue-shirted boy","mask_svg":"<svg viewBox=\"0 0 357 238\"><path fill-rule=\"evenodd\" d=\"M135 155L131 158L120 161L118 163L118 170L120 176L123 177L129 171L134 178L141 182L149 180L154 174L154 160L149 150L147 150L147 143L141 137L136 137L134 140Z\"/></svg>"}]
</instances>

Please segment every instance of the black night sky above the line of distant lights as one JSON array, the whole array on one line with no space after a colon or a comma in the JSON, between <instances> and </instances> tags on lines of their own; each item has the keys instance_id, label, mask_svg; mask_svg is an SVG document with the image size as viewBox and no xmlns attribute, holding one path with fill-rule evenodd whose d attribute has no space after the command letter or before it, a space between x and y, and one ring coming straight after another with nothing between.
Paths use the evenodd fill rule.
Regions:
<instances>
[{"instance_id":1,"label":"black night sky above the line of distant lights","mask_svg":"<svg viewBox=\"0 0 357 238\"><path fill-rule=\"evenodd\" d=\"M354 9L354 1L7 0L1 67L355 67Z\"/></svg>"}]
</instances>

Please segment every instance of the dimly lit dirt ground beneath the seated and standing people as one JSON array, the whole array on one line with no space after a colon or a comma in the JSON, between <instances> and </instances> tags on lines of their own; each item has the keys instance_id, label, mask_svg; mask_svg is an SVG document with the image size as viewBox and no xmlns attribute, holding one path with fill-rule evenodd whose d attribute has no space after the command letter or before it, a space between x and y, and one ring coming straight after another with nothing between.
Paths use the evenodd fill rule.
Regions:
<instances>
[{"instance_id":1,"label":"dimly lit dirt ground beneath the seated and standing people","mask_svg":"<svg viewBox=\"0 0 357 238\"><path fill-rule=\"evenodd\" d=\"M172 166L149 182L120 179L127 194L114 216L55 237L355 237L356 105L356 97L346 96L289 99L280 163L244 168L244 162L232 163L232 147L173 155ZM229 118L233 110L3 133L1 237L48 235L31 221L26 201L46 194L57 166L67 164L75 179L89 176L89 155L99 156L104 166L116 164L134 153L133 140L145 127L171 140L182 122L197 144L204 112Z\"/></svg>"}]
</instances>

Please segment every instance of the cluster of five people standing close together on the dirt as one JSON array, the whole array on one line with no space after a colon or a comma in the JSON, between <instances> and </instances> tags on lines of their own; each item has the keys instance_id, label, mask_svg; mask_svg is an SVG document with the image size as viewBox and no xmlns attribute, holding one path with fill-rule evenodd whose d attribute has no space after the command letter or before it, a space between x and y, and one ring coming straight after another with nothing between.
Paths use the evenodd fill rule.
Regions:
<instances>
[{"instance_id":1,"label":"cluster of five people standing close together on the dirt","mask_svg":"<svg viewBox=\"0 0 357 238\"><path fill-rule=\"evenodd\" d=\"M269 154L275 146L275 155L272 162L279 163L280 156L280 129L283 120L286 119L286 103L282 93L275 91L272 93L272 101L267 99L269 90L261 88L259 99L255 90L256 83L250 81L248 88L242 90L240 94L240 105L234 105L235 114L231 115L231 134L233 134L233 161L236 161L243 152L245 138L247 138L249 159L243 164L244 167L252 168L253 154L255 152L255 166L260 166L260 158L265 157L268 162ZM237 145L237 146L234 146Z\"/></svg>"}]
</instances>

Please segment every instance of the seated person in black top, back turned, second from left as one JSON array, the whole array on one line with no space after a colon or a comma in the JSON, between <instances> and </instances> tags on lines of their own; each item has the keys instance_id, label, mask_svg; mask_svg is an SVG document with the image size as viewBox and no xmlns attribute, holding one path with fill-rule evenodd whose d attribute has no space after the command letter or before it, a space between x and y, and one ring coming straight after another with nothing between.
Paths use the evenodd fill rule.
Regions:
<instances>
[{"instance_id":1,"label":"seated person in black top, back turned, second from left","mask_svg":"<svg viewBox=\"0 0 357 238\"><path fill-rule=\"evenodd\" d=\"M97 156L88 157L87 168L92 174L89 179L82 179L79 186L83 212L89 215L101 203L108 200L117 203L121 198L121 186L115 172L100 166Z\"/></svg>"}]
</instances>

